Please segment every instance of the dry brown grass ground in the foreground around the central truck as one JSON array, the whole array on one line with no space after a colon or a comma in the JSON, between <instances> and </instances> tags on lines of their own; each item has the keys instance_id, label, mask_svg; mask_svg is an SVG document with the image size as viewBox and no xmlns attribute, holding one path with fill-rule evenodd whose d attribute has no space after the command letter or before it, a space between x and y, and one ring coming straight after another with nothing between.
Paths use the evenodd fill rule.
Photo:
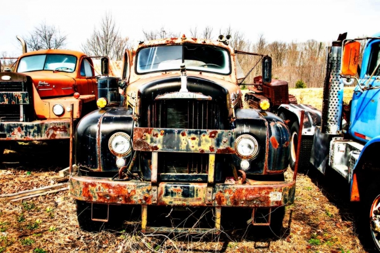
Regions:
<instances>
[{"instance_id":1,"label":"dry brown grass ground in the foreground around the central truck","mask_svg":"<svg viewBox=\"0 0 380 253\"><path fill-rule=\"evenodd\" d=\"M3 165L0 194L55 183L58 170ZM290 170L286 177L292 177ZM128 222L118 231L89 233L79 228L75 204L67 192L25 202L1 202L0 252L365 252L345 202L331 203L318 182L320 179L298 175L296 200L286 207L280 238L273 234L257 237L260 229L251 229L249 236L231 231L196 237L142 234L139 222ZM223 219L230 217L223 217L222 211Z\"/></svg>"}]
</instances>

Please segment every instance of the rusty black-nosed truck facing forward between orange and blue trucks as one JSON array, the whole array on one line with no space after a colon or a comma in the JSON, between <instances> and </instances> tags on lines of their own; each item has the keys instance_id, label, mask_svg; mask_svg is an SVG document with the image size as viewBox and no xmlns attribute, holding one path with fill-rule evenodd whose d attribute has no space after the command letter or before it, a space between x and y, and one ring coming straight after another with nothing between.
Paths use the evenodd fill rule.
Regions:
<instances>
[{"instance_id":1,"label":"rusty black-nosed truck facing forward between orange and blue trucks","mask_svg":"<svg viewBox=\"0 0 380 253\"><path fill-rule=\"evenodd\" d=\"M231 219L224 208L281 229L295 193L295 178L284 179L289 129L269 99L243 108L239 52L220 37L141 41L125 52L122 80L108 86L124 89L124 106L99 95L75 132L69 192L82 229L129 217L112 214L128 205L141 208L143 232L217 232ZM262 82L271 83L271 58L259 57ZM165 207L209 208L213 222L155 226L149 217Z\"/></svg>"}]
</instances>

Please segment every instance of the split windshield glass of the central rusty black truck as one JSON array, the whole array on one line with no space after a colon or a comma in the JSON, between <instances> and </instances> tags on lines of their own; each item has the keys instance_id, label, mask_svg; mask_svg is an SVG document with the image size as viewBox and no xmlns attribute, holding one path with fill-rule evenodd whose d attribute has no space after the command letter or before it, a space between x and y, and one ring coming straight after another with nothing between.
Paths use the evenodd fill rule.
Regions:
<instances>
[{"instance_id":1,"label":"split windshield glass of the central rusty black truck","mask_svg":"<svg viewBox=\"0 0 380 253\"><path fill-rule=\"evenodd\" d=\"M175 70L182 62L187 70L231 73L230 57L226 50L193 44L141 49L137 55L136 70L137 73Z\"/></svg>"}]
</instances>

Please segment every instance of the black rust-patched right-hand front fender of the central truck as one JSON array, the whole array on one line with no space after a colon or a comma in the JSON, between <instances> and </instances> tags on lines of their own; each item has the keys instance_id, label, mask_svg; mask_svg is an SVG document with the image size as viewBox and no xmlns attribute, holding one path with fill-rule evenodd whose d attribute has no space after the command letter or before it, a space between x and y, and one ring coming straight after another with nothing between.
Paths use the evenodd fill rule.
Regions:
<instances>
[{"instance_id":1,"label":"black rust-patched right-hand front fender of the central truck","mask_svg":"<svg viewBox=\"0 0 380 253\"><path fill-rule=\"evenodd\" d=\"M243 134L253 136L259 146L258 155L250 159L250 168L246 174L280 173L288 167L289 129L284 121L271 112L255 109L237 109L235 111L236 138ZM240 170L243 160L234 155L234 165Z\"/></svg>"}]
</instances>

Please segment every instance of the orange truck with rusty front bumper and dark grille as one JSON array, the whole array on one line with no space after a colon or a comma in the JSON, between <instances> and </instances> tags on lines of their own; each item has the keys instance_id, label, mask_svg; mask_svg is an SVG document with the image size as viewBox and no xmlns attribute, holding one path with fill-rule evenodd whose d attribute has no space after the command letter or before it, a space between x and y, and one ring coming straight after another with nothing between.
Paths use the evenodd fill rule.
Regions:
<instances>
[{"instance_id":1,"label":"orange truck with rusty front bumper and dark grille","mask_svg":"<svg viewBox=\"0 0 380 253\"><path fill-rule=\"evenodd\" d=\"M26 53L20 41L23 54L15 71L0 72L1 153L19 142L69 140L70 120L74 125L97 108L90 57L69 50Z\"/></svg>"}]
</instances>

